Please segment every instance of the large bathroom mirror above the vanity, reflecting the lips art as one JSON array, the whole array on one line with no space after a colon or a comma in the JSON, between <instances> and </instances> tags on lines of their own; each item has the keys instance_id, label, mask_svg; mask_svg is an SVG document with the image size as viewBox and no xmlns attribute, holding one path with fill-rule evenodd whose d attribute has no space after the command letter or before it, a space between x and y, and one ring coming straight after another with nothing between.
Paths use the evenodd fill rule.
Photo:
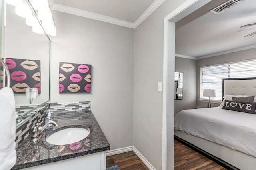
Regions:
<instances>
[{"instance_id":1,"label":"large bathroom mirror above the vanity, reflecting the lips art","mask_svg":"<svg viewBox=\"0 0 256 170\"><path fill-rule=\"evenodd\" d=\"M14 6L6 1L2 53L10 72L17 122L49 102L50 39L28 0ZM16 1L15 1L16 2ZM4 24L4 21L1 22ZM4 56L4 57L3 57ZM2 68L1 74L4 74ZM2 87L6 80L2 78Z\"/></svg>"}]
</instances>

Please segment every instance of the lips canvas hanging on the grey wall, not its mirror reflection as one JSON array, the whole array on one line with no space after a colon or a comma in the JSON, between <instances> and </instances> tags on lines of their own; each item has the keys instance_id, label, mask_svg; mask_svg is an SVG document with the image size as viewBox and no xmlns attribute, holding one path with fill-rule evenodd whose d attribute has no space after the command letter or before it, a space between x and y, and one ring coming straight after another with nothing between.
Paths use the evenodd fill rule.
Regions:
<instances>
[{"instance_id":1,"label":"lips canvas hanging on the grey wall, not its mirror reflection","mask_svg":"<svg viewBox=\"0 0 256 170\"><path fill-rule=\"evenodd\" d=\"M59 93L90 93L92 66L60 62Z\"/></svg>"}]
</instances>

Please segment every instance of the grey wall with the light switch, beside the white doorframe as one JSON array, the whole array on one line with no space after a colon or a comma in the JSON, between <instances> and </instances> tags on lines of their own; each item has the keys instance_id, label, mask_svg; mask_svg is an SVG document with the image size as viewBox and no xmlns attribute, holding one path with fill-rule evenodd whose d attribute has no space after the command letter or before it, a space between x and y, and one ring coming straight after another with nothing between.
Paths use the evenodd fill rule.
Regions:
<instances>
[{"instance_id":1,"label":"grey wall with the light switch, beside the white doorframe","mask_svg":"<svg viewBox=\"0 0 256 170\"><path fill-rule=\"evenodd\" d=\"M162 92L164 17L185 0L166 0L135 29L133 144L162 169Z\"/></svg>"}]
</instances>

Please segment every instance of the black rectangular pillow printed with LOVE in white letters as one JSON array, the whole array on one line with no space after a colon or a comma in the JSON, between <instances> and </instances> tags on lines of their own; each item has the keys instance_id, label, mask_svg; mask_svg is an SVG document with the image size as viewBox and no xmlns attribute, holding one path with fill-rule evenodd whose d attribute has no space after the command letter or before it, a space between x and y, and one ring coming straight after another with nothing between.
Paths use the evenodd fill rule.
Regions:
<instances>
[{"instance_id":1,"label":"black rectangular pillow printed with LOVE in white letters","mask_svg":"<svg viewBox=\"0 0 256 170\"><path fill-rule=\"evenodd\" d=\"M255 114L255 108L256 108L256 103L234 102L230 100L225 100L224 106L222 107L222 109L250 113L250 114Z\"/></svg>"}]
</instances>

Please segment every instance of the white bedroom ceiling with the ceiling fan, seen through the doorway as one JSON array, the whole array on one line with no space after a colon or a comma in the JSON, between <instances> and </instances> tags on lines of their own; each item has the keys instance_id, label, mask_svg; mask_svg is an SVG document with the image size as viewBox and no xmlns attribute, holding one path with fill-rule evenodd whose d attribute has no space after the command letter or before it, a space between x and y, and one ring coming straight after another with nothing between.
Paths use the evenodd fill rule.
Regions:
<instances>
[{"instance_id":1,"label":"white bedroom ceiling with the ceiling fan, seen through the doorway","mask_svg":"<svg viewBox=\"0 0 256 170\"><path fill-rule=\"evenodd\" d=\"M208 12L178 28L176 54L202 57L256 44L256 35L244 38L256 31L256 26L240 28L256 23L255 9L255 0L245 0L221 14Z\"/></svg>"}]
</instances>

